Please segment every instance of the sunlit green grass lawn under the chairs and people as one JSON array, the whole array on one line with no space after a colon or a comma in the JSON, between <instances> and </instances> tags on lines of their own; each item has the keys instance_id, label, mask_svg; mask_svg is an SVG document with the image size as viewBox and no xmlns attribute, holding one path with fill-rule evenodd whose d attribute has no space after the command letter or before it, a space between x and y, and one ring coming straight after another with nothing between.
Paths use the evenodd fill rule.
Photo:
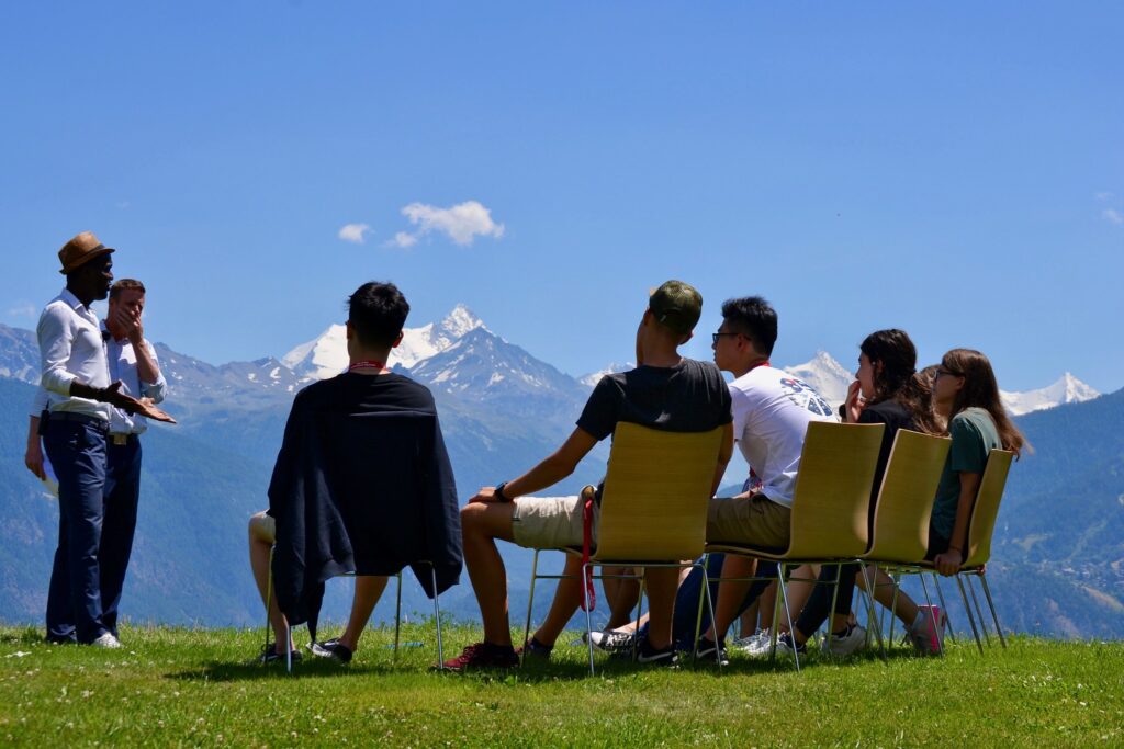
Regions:
<instances>
[{"instance_id":1,"label":"sunlit green grass lawn under the chairs and people","mask_svg":"<svg viewBox=\"0 0 1124 749\"><path fill-rule=\"evenodd\" d=\"M300 636L306 636L303 630ZM325 637L327 633L325 633ZM1124 643L1015 638L943 659L898 648L882 663L735 656L651 670L607 664L563 639L550 664L432 673L434 633L372 630L350 666L294 675L250 661L261 631L133 628L125 648L44 645L0 628L0 742L35 746L1122 746ZM445 629L446 657L477 639ZM604 667L604 668L601 668Z\"/></svg>"}]
</instances>

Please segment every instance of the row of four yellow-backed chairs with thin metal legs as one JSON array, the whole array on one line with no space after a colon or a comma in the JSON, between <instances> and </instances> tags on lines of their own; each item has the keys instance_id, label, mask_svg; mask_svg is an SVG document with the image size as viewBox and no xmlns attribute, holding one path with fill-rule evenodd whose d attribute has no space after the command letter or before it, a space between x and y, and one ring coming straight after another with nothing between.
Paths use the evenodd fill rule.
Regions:
<instances>
[{"instance_id":1,"label":"row of four yellow-backed chairs with thin metal legs","mask_svg":"<svg viewBox=\"0 0 1124 749\"><path fill-rule=\"evenodd\" d=\"M781 608L789 628L792 627L786 586L786 574L790 568L805 564L832 566L861 561L864 575L867 565L874 566L876 575L877 569L897 575L921 575L926 602L930 604L927 611L933 615L924 573L932 574L934 579L936 575L933 565L925 561L924 557L928 545L928 520L950 440L899 430L881 486L872 500L871 487L883 429L882 424L808 424L792 500L790 541L786 549L767 549L706 540L707 503L720 430L677 433L638 424L617 424L602 492L597 548L582 566L583 590L587 581L605 576L595 573L595 567L598 566L697 567L704 575L699 621L704 604L714 621L708 584L711 581L706 577L706 565L683 560L705 559L709 552L770 559L778 563L778 574L770 579L777 581L780 592L771 628L776 638ZM962 576L969 576L969 581L971 577L980 581L995 628L1005 647L984 568L990 558L991 535L1013 457L1014 454L1006 450L991 450L988 457L972 510L964 563L957 575L964 610L981 651L982 646L964 593ZM874 503L873 506L871 502ZM874 518L872 524L871 515ZM547 549L535 550L525 639L531 632L536 581L562 577L538 573L538 555L544 550ZM577 548L562 550L571 554L581 551ZM718 578L716 582L723 579L727 578ZM874 581L867 579L868 592L873 591L873 583ZM976 601L970 582L969 590ZM943 603L944 596L940 587L937 592ZM643 596L643 586L641 595ZM876 627L878 618L873 596L868 594L868 601L870 629L876 632L880 650L885 652L881 630ZM586 606L589 631L592 630L590 609L590 605ZM982 627L982 612L978 602L977 612ZM986 634L986 628L984 631ZM593 674L592 638L587 640L590 673ZM794 656L799 669L799 656Z\"/></svg>"}]
</instances>

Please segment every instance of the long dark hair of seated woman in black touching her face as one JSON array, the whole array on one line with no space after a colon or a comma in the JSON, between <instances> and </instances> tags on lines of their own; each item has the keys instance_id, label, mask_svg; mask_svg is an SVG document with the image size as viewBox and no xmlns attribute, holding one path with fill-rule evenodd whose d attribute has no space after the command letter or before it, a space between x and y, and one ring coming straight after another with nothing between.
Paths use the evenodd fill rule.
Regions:
<instances>
[{"instance_id":1,"label":"long dark hair of seated woman in black touching her face","mask_svg":"<svg viewBox=\"0 0 1124 749\"><path fill-rule=\"evenodd\" d=\"M874 367L874 396L871 403L897 401L913 418L914 429L937 435L941 429L933 413L933 380L916 372L917 348L905 330L890 328L867 336L859 350Z\"/></svg>"}]
</instances>

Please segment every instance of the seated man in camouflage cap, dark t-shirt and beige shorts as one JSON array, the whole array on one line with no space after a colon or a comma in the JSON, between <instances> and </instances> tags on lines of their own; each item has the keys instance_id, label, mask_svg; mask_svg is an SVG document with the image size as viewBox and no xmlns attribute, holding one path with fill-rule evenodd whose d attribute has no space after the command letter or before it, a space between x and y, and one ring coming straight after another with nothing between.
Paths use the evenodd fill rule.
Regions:
<instances>
[{"instance_id":1,"label":"seated man in camouflage cap, dark t-shirt and beige shorts","mask_svg":"<svg viewBox=\"0 0 1124 749\"><path fill-rule=\"evenodd\" d=\"M480 604L484 640L445 661L446 668L518 665L508 623L507 574L496 539L528 548L580 546L583 532L580 497L525 495L540 492L573 473L581 458L599 440L611 435L618 422L687 432L725 426L711 491L717 487L733 454L729 391L717 367L685 358L677 350L690 340L701 309L703 298L689 284L669 281L656 289L636 331L636 368L601 378L578 419L577 429L554 455L518 478L481 488L463 508L464 559ZM580 557L566 555L566 574L580 576ZM677 569L647 570L651 624L647 637L640 643L641 663L674 663L671 618L678 581ZM559 582L551 613L526 643L533 654L549 655L555 638L580 605L581 596L579 581Z\"/></svg>"}]
</instances>

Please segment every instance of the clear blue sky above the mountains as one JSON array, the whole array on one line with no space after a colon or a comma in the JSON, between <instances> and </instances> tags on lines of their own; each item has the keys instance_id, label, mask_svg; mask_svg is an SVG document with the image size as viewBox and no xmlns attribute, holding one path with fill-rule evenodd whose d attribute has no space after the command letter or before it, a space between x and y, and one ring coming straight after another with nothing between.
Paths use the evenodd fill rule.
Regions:
<instances>
[{"instance_id":1,"label":"clear blue sky above the mountains","mask_svg":"<svg viewBox=\"0 0 1124 749\"><path fill-rule=\"evenodd\" d=\"M781 364L901 327L1006 390L1116 390L1121 28L1096 2L4 3L0 321L34 327L89 229L151 337L214 363L390 278L410 325L463 302L581 374L681 277L701 334L769 298Z\"/></svg>"}]
</instances>

